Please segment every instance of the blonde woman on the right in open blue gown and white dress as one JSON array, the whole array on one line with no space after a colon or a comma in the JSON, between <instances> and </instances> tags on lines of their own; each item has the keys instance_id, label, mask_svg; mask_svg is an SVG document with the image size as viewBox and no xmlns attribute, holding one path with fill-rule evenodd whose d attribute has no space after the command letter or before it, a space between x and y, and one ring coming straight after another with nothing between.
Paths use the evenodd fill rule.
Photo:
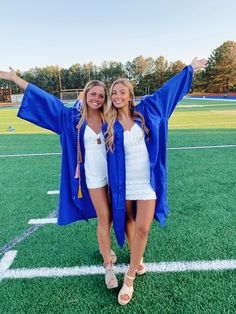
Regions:
<instances>
[{"instance_id":1,"label":"blonde woman on the right in open blue gown and white dress","mask_svg":"<svg viewBox=\"0 0 236 314\"><path fill-rule=\"evenodd\" d=\"M121 305L132 298L135 275L147 271L142 257L153 218L162 226L165 224L168 119L189 92L193 70L204 68L205 64L204 59L195 58L137 106L128 80L119 79L111 86L106 144L113 225L118 243L124 244L126 233L131 250L129 268L118 295Z\"/></svg>"}]
</instances>

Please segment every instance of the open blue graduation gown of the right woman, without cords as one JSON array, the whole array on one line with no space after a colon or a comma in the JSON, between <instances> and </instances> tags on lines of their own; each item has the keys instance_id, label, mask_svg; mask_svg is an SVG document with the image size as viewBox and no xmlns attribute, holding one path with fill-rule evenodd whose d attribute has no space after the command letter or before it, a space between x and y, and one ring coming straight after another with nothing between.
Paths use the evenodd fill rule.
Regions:
<instances>
[{"instance_id":1,"label":"open blue graduation gown of the right woman, without cords","mask_svg":"<svg viewBox=\"0 0 236 314\"><path fill-rule=\"evenodd\" d=\"M167 133L168 119L176 104L186 95L192 83L192 66L185 67L153 95L143 99L135 111L140 112L147 128L149 139L146 145L150 159L150 184L157 195L154 218L165 225L168 213L167 192ZM104 129L105 131L105 129ZM120 246L125 242L125 151L124 129L116 120L114 124L113 152L108 152L108 176L112 195L113 226ZM145 135L146 137L146 135ZM135 162L135 160L134 160Z\"/></svg>"}]
</instances>

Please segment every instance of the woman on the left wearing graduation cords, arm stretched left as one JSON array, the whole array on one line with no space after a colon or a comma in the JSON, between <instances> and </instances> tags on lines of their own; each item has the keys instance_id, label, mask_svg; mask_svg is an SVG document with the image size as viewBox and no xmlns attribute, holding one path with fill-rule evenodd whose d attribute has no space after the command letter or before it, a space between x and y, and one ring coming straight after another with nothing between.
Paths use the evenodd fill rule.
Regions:
<instances>
[{"instance_id":1,"label":"woman on the left wearing graduation cords, arm stretched left","mask_svg":"<svg viewBox=\"0 0 236 314\"><path fill-rule=\"evenodd\" d=\"M30 84L10 68L0 79L11 80L25 90L18 117L60 135L62 147L58 224L97 216L97 239L105 266L108 289L118 286L111 250L111 211L107 189L107 162L102 133L107 90L101 81L84 89L80 110L67 108L56 97Z\"/></svg>"}]
</instances>

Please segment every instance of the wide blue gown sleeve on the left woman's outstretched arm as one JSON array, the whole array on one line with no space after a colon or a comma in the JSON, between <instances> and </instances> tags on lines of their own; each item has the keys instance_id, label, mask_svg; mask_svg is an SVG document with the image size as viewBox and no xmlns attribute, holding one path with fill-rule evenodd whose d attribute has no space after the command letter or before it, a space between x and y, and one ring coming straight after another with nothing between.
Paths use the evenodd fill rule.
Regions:
<instances>
[{"instance_id":1,"label":"wide blue gown sleeve on the left woman's outstretched arm","mask_svg":"<svg viewBox=\"0 0 236 314\"><path fill-rule=\"evenodd\" d=\"M62 134L67 112L62 101L41 88L28 84L17 116L42 128Z\"/></svg>"}]
</instances>

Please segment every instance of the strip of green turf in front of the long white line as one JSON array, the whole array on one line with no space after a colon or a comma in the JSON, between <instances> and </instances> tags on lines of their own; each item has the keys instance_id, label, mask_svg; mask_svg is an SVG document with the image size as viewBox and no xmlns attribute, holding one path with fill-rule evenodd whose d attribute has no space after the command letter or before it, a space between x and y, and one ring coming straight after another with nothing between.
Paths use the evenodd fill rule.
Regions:
<instances>
[{"instance_id":1,"label":"strip of green turf in front of the long white line","mask_svg":"<svg viewBox=\"0 0 236 314\"><path fill-rule=\"evenodd\" d=\"M121 282L123 276L119 275ZM137 278L132 302L117 304L102 276L3 281L3 313L235 313L233 272L149 273ZM16 296L14 299L12 296ZM10 302L9 302L10 300Z\"/></svg>"}]
</instances>

